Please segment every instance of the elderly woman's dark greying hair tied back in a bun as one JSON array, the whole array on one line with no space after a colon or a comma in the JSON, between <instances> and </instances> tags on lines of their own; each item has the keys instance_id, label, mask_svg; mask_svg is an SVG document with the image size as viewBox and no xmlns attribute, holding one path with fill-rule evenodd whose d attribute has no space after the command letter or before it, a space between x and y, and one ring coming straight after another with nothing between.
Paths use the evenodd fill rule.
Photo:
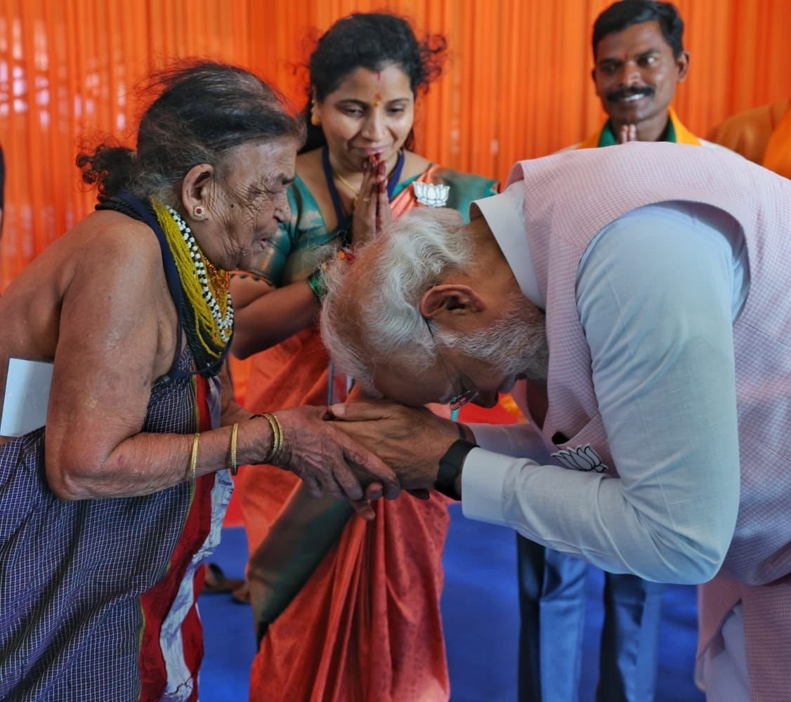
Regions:
<instances>
[{"instance_id":1,"label":"elderly woman's dark greying hair tied back in a bun","mask_svg":"<svg viewBox=\"0 0 791 702\"><path fill-rule=\"evenodd\" d=\"M100 202L127 190L175 205L176 184L193 166L212 164L222 178L223 158L241 144L305 138L282 96L237 66L180 63L155 74L148 91L158 96L142 115L136 151L104 142L77 157Z\"/></svg>"}]
</instances>

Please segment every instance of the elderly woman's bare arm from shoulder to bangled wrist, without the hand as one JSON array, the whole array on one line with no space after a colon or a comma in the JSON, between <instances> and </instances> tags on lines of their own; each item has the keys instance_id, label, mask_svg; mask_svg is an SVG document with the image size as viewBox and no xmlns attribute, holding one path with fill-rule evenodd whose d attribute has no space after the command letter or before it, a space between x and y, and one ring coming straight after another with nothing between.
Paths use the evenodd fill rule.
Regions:
<instances>
[{"instance_id":1,"label":"elderly woman's bare arm from shoulder to bangled wrist, without the hand","mask_svg":"<svg viewBox=\"0 0 791 702\"><path fill-rule=\"evenodd\" d=\"M108 228L102 214L61 246L74 272L59 307L45 460L51 489L70 500L153 493L189 479L193 455L200 475L229 450L229 428L197 441L141 432L150 388L180 344L176 311L157 241L138 223ZM240 460L269 451L264 424L239 432Z\"/></svg>"}]
</instances>

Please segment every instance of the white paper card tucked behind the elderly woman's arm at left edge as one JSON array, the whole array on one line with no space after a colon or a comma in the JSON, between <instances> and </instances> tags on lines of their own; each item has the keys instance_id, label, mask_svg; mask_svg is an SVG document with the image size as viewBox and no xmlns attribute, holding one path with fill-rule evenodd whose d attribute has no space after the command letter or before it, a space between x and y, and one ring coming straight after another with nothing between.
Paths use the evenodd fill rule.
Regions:
<instances>
[{"instance_id":1,"label":"white paper card tucked behind the elderly woman's arm at left edge","mask_svg":"<svg viewBox=\"0 0 791 702\"><path fill-rule=\"evenodd\" d=\"M47 423L52 364L10 358L0 436L23 436Z\"/></svg>"}]
</instances>

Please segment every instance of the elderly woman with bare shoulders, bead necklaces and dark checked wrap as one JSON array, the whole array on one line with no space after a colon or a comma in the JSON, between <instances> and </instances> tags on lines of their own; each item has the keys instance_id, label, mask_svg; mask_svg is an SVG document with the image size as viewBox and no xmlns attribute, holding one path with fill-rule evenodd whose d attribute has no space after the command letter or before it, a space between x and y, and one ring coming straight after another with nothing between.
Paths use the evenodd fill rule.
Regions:
<instances>
[{"instance_id":1,"label":"elderly woman with bare shoulders, bead necklaces and dark checked wrap","mask_svg":"<svg viewBox=\"0 0 791 702\"><path fill-rule=\"evenodd\" d=\"M46 424L0 436L3 700L196 700L199 565L241 463L398 490L324 409L250 417L224 391L225 271L288 219L302 130L232 66L160 83L136 152L78 158L99 211L0 298L0 389L9 359L54 361Z\"/></svg>"}]
</instances>

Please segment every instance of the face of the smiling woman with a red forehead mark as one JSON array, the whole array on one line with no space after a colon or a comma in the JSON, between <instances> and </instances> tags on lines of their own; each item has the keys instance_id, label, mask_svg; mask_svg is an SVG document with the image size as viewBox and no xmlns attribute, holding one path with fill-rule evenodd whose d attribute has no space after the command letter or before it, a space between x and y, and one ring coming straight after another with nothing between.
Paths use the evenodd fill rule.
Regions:
<instances>
[{"instance_id":1,"label":"face of the smiling woman with a red forehead mark","mask_svg":"<svg viewBox=\"0 0 791 702\"><path fill-rule=\"evenodd\" d=\"M335 168L361 171L370 157L391 162L414 122L414 94L400 66L353 70L316 113Z\"/></svg>"}]
</instances>

